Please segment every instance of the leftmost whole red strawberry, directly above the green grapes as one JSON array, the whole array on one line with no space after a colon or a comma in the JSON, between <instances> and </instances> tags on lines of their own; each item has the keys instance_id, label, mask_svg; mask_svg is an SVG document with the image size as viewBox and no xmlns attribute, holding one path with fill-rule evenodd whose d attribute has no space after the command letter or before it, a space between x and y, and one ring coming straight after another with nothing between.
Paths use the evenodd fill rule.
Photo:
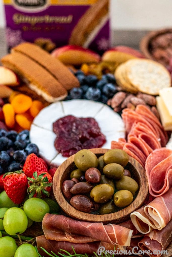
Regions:
<instances>
[{"instance_id":1,"label":"leftmost whole red strawberry, directly above the green grapes","mask_svg":"<svg viewBox=\"0 0 172 257\"><path fill-rule=\"evenodd\" d=\"M3 176L4 189L8 197L21 204L27 194L27 177L22 170L7 172Z\"/></svg>"}]
</instances>

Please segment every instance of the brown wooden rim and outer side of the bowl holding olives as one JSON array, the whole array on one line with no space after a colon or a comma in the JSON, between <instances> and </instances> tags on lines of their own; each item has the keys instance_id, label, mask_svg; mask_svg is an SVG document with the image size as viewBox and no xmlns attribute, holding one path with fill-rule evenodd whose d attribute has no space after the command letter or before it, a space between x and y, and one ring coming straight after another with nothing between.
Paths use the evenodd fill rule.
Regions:
<instances>
[{"instance_id":1,"label":"brown wooden rim and outer side of the bowl holding olives","mask_svg":"<svg viewBox=\"0 0 172 257\"><path fill-rule=\"evenodd\" d=\"M94 148L94 149L89 149L95 154L104 154L105 152L109 151L110 149L101 149L101 148ZM56 198L56 201L58 202L59 206L61 209L67 213L69 216L76 218L78 220L85 220L85 221L91 221L91 222L109 222L109 221L120 221L120 219L124 219L125 216L128 216L130 213L134 212L136 209L138 209L144 202L147 194L148 194L148 179L145 173L144 168L141 166L141 164L136 161L134 158L129 156L129 163L135 168L133 165L134 162L137 164L139 167L139 171L136 169L139 179L141 181L141 176L143 181L140 183L140 189L138 191L138 194L134 201L127 206L126 208L119 210L118 212L114 212L111 214L89 214L85 212L81 212L80 210L77 210L74 208L72 205L70 205L67 200L64 198L63 193L60 188L61 184L61 177L64 173L64 171L67 169L67 167L74 161L75 154L70 156L67 160L65 160L59 168L56 170L54 177L53 177L53 192L54 196ZM145 192L143 194L142 192ZM137 207L135 206L135 203L138 203ZM131 208L131 209L130 209ZM124 214L125 210L125 214ZM130 210L130 211L129 211Z\"/></svg>"}]
</instances>

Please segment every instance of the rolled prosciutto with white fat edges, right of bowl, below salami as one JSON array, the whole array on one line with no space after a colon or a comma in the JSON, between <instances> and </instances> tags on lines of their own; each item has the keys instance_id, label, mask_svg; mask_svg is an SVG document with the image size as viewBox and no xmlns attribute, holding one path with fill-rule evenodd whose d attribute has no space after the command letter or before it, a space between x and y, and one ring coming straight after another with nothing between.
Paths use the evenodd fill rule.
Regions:
<instances>
[{"instance_id":1,"label":"rolled prosciutto with white fat edges, right of bowl, below salami","mask_svg":"<svg viewBox=\"0 0 172 257\"><path fill-rule=\"evenodd\" d=\"M134 226L142 234L151 230L162 230L172 219L172 188L164 195L156 197L151 203L130 214Z\"/></svg>"}]
</instances>

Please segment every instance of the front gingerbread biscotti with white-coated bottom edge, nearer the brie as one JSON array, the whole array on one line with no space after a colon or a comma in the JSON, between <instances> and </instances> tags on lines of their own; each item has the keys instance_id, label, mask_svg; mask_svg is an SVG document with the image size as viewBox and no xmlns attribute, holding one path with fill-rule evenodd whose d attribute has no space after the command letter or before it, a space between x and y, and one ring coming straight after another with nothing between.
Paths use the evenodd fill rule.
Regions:
<instances>
[{"instance_id":1,"label":"front gingerbread biscotti with white-coated bottom edge, nearer the brie","mask_svg":"<svg viewBox=\"0 0 172 257\"><path fill-rule=\"evenodd\" d=\"M67 90L46 69L24 54L13 52L4 56L1 62L47 102L56 102L67 96Z\"/></svg>"}]
</instances>

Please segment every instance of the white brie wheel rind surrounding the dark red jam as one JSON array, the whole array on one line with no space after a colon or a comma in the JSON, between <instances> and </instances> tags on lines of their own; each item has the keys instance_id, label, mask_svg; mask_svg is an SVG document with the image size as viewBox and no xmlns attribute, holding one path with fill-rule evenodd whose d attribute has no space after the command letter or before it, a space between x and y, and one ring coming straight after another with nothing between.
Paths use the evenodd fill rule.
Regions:
<instances>
[{"instance_id":1,"label":"white brie wheel rind surrounding the dark red jam","mask_svg":"<svg viewBox=\"0 0 172 257\"><path fill-rule=\"evenodd\" d=\"M30 128L31 143L38 146L40 156L51 165L59 166L67 159L55 149L56 134L53 132L53 123L67 115L94 118L106 136L102 148L110 149L112 140L125 137L122 118L105 104L80 99L53 103L39 112Z\"/></svg>"}]
</instances>

